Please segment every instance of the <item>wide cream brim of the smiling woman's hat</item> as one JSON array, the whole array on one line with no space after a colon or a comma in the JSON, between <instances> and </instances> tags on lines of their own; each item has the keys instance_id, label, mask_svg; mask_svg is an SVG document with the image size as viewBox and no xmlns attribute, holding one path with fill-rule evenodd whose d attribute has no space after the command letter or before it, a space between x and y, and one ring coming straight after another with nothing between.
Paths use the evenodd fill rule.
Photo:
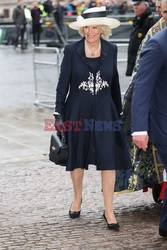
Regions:
<instances>
[{"instance_id":1,"label":"wide cream brim of the smiling woman's hat","mask_svg":"<svg viewBox=\"0 0 167 250\"><path fill-rule=\"evenodd\" d=\"M86 18L80 21L70 23L69 27L74 30L79 30L82 27L90 25L106 25L110 29L114 29L120 25L120 21L115 18L108 17Z\"/></svg>"}]
</instances>

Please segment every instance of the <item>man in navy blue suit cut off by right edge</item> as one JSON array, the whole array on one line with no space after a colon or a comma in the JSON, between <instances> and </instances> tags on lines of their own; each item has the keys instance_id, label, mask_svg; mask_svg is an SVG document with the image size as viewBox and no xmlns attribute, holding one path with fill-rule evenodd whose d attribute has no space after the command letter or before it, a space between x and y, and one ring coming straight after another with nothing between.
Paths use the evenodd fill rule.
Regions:
<instances>
[{"instance_id":1,"label":"man in navy blue suit cut off by right edge","mask_svg":"<svg viewBox=\"0 0 167 250\"><path fill-rule=\"evenodd\" d=\"M143 151L150 140L167 171L167 27L152 37L141 53L132 99L133 142ZM167 189L159 234L167 237Z\"/></svg>"}]
</instances>

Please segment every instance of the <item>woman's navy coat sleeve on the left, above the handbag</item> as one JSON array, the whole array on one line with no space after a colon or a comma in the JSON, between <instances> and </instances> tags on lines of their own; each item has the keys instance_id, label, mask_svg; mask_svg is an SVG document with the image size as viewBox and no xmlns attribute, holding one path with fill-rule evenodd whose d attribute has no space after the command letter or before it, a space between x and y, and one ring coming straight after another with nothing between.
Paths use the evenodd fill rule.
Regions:
<instances>
[{"instance_id":1,"label":"woman's navy coat sleeve on the left, above the handbag","mask_svg":"<svg viewBox=\"0 0 167 250\"><path fill-rule=\"evenodd\" d=\"M64 104L71 82L71 67L72 60L70 56L70 49L68 46L64 49L64 57L61 64L60 76L56 89L56 107L55 111L64 116Z\"/></svg>"}]
</instances>

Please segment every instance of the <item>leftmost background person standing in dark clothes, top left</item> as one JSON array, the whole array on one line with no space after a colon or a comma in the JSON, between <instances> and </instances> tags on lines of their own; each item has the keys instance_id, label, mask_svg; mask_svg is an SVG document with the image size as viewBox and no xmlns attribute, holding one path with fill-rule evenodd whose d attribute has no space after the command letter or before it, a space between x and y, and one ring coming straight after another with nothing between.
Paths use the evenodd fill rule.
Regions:
<instances>
[{"instance_id":1,"label":"leftmost background person standing in dark clothes, top left","mask_svg":"<svg viewBox=\"0 0 167 250\"><path fill-rule=\"evenodd\" d=\"M24 13L24 8L23 8L24 1L23 0L18 0L17 1L17 7L14 8L13 11L13 21L16 25L16 34L14 38L14 46L17 48L18 42L19 42L19 37L21 37L20 43L21 43L21 50L25 49L24 45L24 34L26 31L26 17Z\"/></svg>"}]
</instances>

